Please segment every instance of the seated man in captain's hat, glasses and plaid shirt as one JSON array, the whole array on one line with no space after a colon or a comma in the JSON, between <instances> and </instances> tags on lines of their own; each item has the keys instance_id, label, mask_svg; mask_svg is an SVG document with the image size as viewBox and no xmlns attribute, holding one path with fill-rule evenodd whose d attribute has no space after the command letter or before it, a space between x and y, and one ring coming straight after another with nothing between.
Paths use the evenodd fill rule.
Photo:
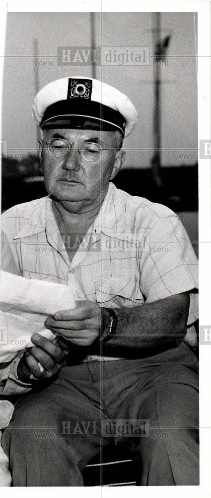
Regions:
<instances>
[{"instance_id":1,"label":"seated man in captain's hat, glasses and plaid shirt","mask_svg":"<svg viewBox=\"0 0 211 498\"><path fill-rule=\"evenodd\" d=\"M182 340L193 342L197 260L172 211L109 183L136 110L100 81L64 78L33 116L49 196L4 213L2 268L72 285L77 306L46 320L57 344L32 336L2 371L2 394L30 391L2 436L12 484L83 486L101 444L130 441L142 486L196 485L198 362Z\"/></svg>"}]
</instances>

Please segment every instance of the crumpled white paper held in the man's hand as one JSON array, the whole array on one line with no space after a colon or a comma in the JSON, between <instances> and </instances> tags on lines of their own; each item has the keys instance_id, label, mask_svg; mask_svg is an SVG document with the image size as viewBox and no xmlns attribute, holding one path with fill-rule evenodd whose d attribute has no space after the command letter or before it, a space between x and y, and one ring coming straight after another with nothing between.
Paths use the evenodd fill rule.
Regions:
<instances>
[{"instance_id":1,"label":"crumpled white paper held in the man's hand","mask_svg":"<svg viewBox=\"0 0 211 498\"><path fill-rule=\"evenodd\" d=\"M0 361L11 361L17 351L33 346L32 334L53 340L46 329L47 316L75 307L72 286L29 280L0 272Z\"/></svg>"}]
</instances>

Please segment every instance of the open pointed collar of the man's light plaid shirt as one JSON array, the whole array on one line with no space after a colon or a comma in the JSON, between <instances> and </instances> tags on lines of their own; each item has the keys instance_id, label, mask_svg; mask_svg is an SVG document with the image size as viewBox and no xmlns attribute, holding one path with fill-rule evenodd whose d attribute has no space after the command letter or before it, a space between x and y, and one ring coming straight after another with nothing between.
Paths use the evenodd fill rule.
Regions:
<instances>
[{"instance_id":1,"label":"open pointed collar of the man's light plaid shirt","mask_svg":"<svg viewBox=\"0 0 211 498\"><path fill-rule=\"evenodd\" d=\"M34 201L32 201L32 204L33 202ZM101 232L108 237L126 241L128 241L128 237L132 234L126 221L122 192L111 182L109 183L108 192L102 203L101 209L90 229L96 234L95 241L97 241L98 235L100 239ZM46 230L49 235L53 235L55 234L55 231L59 230L54 218L52 199L50 196L40 199L39 204L37 204L37 202L34 203L34 210L30 213L30 217L14 239L30 237L31 235L38 234L44 230Z\"/></svg>"}]
</instances>

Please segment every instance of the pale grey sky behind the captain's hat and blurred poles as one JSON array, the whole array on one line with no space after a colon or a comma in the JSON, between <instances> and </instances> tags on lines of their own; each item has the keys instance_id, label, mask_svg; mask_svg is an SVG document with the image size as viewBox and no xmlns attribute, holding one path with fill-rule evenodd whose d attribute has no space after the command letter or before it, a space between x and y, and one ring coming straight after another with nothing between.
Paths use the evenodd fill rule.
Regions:
<instances>
[{"instance_id":1,"label":"pale grey sky behind the captain's hat and blurred poles","mask_svg":"<svg viewBox=\"0 0 211 498\"><path fill-rule=\"evenodd\" d=\"M125 140L125 168L147 168L153 155L153 13L94 14L96 46L149 47L146 66L103 66L96 77L130 96L139 121ZM161 36L171 35L166 63L161 66L161 164L193 165L197 161L196 18L192 12L161 13ZM38 39L36 69L33 41ZM3 133L7 156L17 159L37 151L31 107L38 86L61 77L91 76L91 67L58 66L58 46L90 46L89 13L9 13L7 17Z\"/></svg>"}]
</instances>

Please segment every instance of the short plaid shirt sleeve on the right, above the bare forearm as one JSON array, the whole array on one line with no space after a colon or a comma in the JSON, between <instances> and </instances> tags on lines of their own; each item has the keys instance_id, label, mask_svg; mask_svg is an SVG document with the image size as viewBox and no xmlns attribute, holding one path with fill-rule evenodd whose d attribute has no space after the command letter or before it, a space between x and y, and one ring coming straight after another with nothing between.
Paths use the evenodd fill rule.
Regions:
<instances>
[{"instance_id":1,"label":"short plaid shirt sleeve on the right, above the bare forearm","mask_svg":"<svg viewBox=\"0 0 211 498\"><path fill-rule=\"evenodd\" d=\"M188 325L198 319L198 259L176 215L157 220L140 257L140 288L146 303L190 293Z\"/></svg>"}]
</instances>

